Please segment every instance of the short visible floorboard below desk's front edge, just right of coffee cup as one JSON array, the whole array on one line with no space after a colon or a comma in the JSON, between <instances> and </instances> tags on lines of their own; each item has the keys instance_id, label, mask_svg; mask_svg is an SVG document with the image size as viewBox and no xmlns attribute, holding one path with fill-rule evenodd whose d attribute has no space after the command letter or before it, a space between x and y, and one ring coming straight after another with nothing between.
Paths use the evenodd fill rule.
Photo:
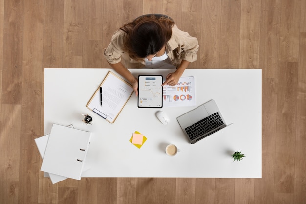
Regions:
<instances>
[{"instance_id":1,"label":"short visible floorboard below desk's front edge, just right of coffee cup","mask_svg":"<svg viewBox=\"0 0 306 204\"><path fill-rule=\"evenodd\" d=\"M177 178L175 204L194 203L196 194L195 187L195 178Z\"/></svg>"}]
</instances>

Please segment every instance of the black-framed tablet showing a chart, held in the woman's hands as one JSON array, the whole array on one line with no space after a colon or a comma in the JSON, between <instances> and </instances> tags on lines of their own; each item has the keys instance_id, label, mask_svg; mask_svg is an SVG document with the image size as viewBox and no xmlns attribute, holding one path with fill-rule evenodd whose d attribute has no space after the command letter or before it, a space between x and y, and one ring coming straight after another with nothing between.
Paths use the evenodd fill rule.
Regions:
<instances>
[{"instance_id":1,"label":"black-framed tablet showing a chart, held in the woman's hands","mask_svg":"<svg viewBox=\"0 0 306 204\"><path fill-rule=\"evenodd\" d=\"M138 108L163 107L163 76L138 76Z\"/></svg>"}]
</instances>

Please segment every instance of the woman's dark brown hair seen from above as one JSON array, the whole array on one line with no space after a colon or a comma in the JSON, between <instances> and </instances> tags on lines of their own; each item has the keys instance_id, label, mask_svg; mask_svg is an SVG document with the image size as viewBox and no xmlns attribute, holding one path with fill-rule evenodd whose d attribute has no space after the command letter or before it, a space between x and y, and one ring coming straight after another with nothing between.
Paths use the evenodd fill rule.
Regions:
<instances>
[{"instance_id":1,"label":"woman's dark brown hair seen from above","mask_svg":"<svg viewBox=\"0 0 306 204\"><path fill-rule=\"evenodd\" d=\"M124 46L133 59L156 54L169 41L174 21L167 16L145 15L120 29L127 33Z\"/></svg>"}]
</instances>

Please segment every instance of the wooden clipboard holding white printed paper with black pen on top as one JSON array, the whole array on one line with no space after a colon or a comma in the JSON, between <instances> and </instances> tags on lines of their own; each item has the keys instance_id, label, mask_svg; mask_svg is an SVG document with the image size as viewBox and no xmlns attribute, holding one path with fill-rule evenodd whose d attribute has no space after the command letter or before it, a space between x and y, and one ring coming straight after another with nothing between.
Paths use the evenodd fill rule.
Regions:
<instances>
[{"instance_id":1,"label":"wooden clipboard holding white printed paper with black pen on top","mask_svg":"<svg viewBox=\"0 0 306 204\"><path fill-rule=\"evenodd\" d=\"M86 107L114 123L133 92L131 84L109 71Z\"/></svg>"}]
</instances>

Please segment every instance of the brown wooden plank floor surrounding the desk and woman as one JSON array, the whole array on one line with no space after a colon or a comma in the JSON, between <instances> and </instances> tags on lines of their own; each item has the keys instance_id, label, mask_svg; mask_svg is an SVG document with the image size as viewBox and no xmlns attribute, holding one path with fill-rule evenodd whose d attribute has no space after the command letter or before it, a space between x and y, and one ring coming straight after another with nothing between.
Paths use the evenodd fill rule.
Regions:
<instances>
[{"instance_id":1,"label":"brown wooden plank floor surrounding the desk and woman","mask_svg":"<svg viewBox=\"0 0 306 204\"><path fill-rule=\"evenodd\" d=\"M146 13L197 37L189 68L262 69L262 179L43 177L44 68L110 68ZM0 76L0 204L306 204L306 0L0 0Z\"/></svg>"}]
</instances>

